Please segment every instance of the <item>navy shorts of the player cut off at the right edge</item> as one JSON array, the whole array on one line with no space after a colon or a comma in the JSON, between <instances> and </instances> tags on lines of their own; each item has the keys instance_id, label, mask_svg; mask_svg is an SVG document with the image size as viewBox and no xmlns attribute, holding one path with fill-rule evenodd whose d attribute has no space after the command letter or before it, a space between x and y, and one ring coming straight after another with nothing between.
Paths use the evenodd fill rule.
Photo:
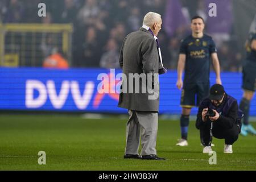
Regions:
<instances>
[{"instance_id":1,"label":"navy shorts of the player cut off at the right edge","mask_svg":"<svg viewBox=\"0 0 256 182\"><path fill-rule=\"evenodd\" d=\"M243 65L243 83L242 88L255 92L256 89L256 63L245 61Z\"/></svg>"}]
</instances>

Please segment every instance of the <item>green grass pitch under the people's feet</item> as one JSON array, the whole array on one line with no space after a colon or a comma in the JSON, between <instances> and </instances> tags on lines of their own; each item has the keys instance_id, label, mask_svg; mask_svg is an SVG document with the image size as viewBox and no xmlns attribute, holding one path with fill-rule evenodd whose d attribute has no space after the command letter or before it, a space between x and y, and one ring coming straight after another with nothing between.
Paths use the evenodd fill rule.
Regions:
<instances>
[{"instance_id":1,"label":"green grass pitch under the people's feet","mask_svg":"<svg viewBox=\"0 0 256 182\"><path fill-rule=\"evenodd\" d=\"M256 127L256 123L252 123ZM168 160L123 159L126 119L83 119L74 115L0 116L0 170L255 170L256 136L240 138L234 154L223 154L224 140L214 138L217 164L203 154L195 122L187 147L175 146L178 121L159 120L157 151ZM38 152L46 152L46 165Z\"/></svg>"}]
</instances>

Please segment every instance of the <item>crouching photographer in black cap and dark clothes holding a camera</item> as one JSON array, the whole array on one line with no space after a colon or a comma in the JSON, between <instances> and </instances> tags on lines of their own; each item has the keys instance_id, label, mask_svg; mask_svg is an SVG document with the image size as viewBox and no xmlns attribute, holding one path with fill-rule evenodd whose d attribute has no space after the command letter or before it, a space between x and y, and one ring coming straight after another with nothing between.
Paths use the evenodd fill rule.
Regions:
<instances>
[{"instance_id":1,"label":"crouching photographer in black cap and dark clothes holding a camera","mask_svg":"<svg viewBox=\"0 0 256 182\"><path fill-rule=\"evenodd\" d=\"M210 144L215 137L225 139L224 153L232 154L232 144L241 131L241 118L237 100L226 94L222 85L213 85L210 96L201 102L196 119L196 128L202 135L203 153L212 151Z\"/></svg>"}]
</instances>

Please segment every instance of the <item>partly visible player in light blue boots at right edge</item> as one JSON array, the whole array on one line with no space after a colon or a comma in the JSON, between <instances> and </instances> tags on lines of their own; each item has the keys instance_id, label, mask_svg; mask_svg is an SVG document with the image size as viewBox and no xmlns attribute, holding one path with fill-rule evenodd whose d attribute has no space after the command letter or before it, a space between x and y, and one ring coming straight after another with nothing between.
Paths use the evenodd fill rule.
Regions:
<instances>
[{"instance_id":1,"label":"partly visible player in light blue boots at right edge","mask_svg":"<svg viewBox=\"0 0 256 182\"><path fill-rule=\"evenodd\" d=\"M246 52L246 61L243 65L243 96L239 106L245 114L241 129L243 136L247 136L248 133L256 135L256 130L249 124L250 102L256 89L256 32L251 33L246 41Z\"/></svg>"}]
</instances>

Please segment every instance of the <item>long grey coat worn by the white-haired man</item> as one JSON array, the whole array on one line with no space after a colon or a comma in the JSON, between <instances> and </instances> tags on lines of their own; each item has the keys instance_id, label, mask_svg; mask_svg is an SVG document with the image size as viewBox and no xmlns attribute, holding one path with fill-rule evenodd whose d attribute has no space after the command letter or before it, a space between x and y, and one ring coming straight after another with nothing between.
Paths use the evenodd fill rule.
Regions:
<instances>
[{"instance_id":1,"label":"long grey coat worn by the white-haired man","mask_svg":"<svg viewBox=\"0 0 256 182\"><path fill-rule=\"evenodd\" d=\"M158 112L158 76L155 78L153 77L152 80L148 80L147 78L147 73L152 73L154 76L154 73L158 73L159 71L159 55L154 36L152 36L152 34L145 28L140 28L140 30L131 32L127 35L125 40L123 40L119 64L123 74L127 77L127 82L122 82L122 92L119 95L118 107L136 111ZM129 78L129 73L138 73L138 75L142 74L141 76L145 76L144 78L146 78L146 82L142 81L143 78L137 81L139 84L139 93L135 93L136 81L131 77ZM133 82L131 82L131 80L133 80ZM125 84L127 85L127 88ZM148 88L148 86L152 89ZM142 92L145 89L146 93ZM130 93L129 90L133 90L133 93Z\"/></svg>"}]
</instances>

